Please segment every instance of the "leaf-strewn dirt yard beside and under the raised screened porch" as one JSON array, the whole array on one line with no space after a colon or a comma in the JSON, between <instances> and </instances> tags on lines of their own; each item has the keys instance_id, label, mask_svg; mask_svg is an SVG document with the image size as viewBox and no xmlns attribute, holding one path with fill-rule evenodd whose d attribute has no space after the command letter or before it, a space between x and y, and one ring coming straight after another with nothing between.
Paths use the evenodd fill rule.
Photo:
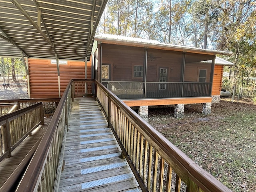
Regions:
<instances>
[{"instance_id":1,"label":"leaf-strewn dirt yard beside and under the raised screened porch","mask_svg":"<svg viewBox=\"0 0 256 192\"><path fill-rule=\"evenodd\" d=\"M188 157L235 192L256 191L256 105L222 98L212 114L202 104L185 105L184 118L174 108L149 110L148 122Z\"/></svg>"}]
</instances>

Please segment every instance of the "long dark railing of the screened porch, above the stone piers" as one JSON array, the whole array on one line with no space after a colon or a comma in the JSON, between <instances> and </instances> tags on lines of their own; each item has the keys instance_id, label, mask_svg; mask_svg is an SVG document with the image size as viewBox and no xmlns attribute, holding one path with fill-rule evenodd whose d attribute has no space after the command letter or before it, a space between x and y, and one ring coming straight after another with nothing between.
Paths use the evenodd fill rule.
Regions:
<instances>
[{"instance_id":1,"label":"long dark railing of the screened porch, above the stone piers","mask_svg":"<svg viewBox=\"0 0 256 192\"><path fill-rule=\"evenodd\" d=\"M117 82L102 84L120 99L183 98L211 96L212 83L205 82Z\"/></svg>"}]
</instances>

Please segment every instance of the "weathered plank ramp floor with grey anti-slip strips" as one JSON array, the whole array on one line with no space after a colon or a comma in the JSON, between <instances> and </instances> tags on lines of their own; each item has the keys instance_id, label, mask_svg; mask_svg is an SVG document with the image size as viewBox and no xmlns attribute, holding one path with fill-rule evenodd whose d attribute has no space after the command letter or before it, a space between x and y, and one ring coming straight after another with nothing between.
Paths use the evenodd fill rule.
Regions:
<instances>
[{"instance_id":1,"label":"weathered plank ramp floor with grey anti-slip strips","mask_svg":"<svg viewBox=\"0 0 256 192\"><path fill-rule=\"evenodd\" d=\"M94 98L76 98L68 119L60 192L139 192L139 185Z\"/></svg>"}]
</instances>

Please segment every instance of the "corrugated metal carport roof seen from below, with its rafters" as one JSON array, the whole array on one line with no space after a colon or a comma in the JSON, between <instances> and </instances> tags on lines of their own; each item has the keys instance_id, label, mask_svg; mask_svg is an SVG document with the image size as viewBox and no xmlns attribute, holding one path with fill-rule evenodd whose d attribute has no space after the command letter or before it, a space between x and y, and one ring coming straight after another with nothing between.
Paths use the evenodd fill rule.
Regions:
<instances>
[{"instance_id":1,"label":"corrugated metal carport roof seen from below, with its rafters","mask_svg":"<svg viewBox=\"0 0 256 192\"><path fill-rule=\"evenodd\" d=\"M107 0L0 0L0 56L90 60Z\"/></svg>"}]
</instances>

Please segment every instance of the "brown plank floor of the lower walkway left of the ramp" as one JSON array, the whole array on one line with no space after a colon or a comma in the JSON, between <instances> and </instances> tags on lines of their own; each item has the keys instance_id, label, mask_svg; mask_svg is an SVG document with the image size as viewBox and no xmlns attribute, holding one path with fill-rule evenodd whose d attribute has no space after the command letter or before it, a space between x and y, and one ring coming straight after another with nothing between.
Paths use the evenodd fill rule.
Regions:
<instances>
[{"instance_id":1,"label":"brown plank floor of the lower walkway left of the ramp","mask_svg":"<svg viewBox=\"0 0 256 192\"><path fill-rule=\"evenodd\" d=\"M20 162L22 162L42 134L44 134L50 120L51 118L44 118L44 125L38 126L38 128L32 132L32 136L28 136L22 141L22 143L12 151L12 157L5 158L0 162L0 187L2 187L12 172L14 172Z\"/></svg>"}]
</instances>

